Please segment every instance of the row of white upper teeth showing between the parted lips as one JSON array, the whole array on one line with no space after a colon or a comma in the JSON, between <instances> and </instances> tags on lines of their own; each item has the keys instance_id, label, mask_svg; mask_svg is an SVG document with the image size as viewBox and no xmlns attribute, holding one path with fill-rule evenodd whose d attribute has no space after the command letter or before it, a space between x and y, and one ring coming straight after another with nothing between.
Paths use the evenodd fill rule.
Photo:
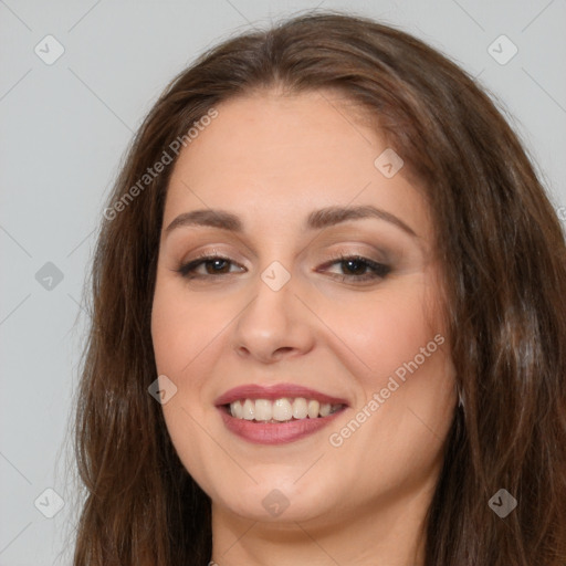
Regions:
<instances>
[{"instance_id":1,"label":"row of white upper teeth showing between the parted lips","mask_svg":"<svg viewBox=\"0 0 566 566\"><path fill-rule=\"evenodd\" d=\"M344 403L319 402L305 397L280 399L238 399L223 405L224 410L239 420L281 424L295 420L322 419L344 409Z\"/></svg>"}]
</instances>

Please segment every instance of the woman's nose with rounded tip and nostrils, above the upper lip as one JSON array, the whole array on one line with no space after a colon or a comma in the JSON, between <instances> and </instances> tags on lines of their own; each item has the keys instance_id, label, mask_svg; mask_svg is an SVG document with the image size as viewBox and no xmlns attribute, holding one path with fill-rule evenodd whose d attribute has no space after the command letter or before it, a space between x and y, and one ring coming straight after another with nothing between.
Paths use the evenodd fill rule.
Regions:
<instances>
[{"instance_id":1,"label":"woman's nose with rounded tip and nostrils, above the upper lip","mask_svg":"<svg viewBox=\"0 0 566 566\"><path fill-rule=\"evenodd\" d=\"M233 348L244 358L273 364L308 353L314 346L317 319L298 296L291 277L274 290L261 277L255 296L248 303L233 326Z\"/></svg>"}]
</instances>

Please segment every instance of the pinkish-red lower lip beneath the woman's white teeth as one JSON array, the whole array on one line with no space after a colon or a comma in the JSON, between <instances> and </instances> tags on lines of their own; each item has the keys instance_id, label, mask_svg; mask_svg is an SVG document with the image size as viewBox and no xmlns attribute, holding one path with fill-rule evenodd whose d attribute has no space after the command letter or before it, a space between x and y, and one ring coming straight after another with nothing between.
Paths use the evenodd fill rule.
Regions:
<instances>
[{"instance_id":1,"label":"pinkish-red lower lip beneath the woman's white teeth","mask_svg":"<svg viewBox=\"0 0 566 566\"><path fill-rule=\"evenodd\" d=\"M316 419L297 419L289 422L255 422L245 419L235 419L224 408L219 407L226 427L240 438L255 444L286 444L295 442L328 426L344 409L328 417Z\"/></svg>"}]
</instances>

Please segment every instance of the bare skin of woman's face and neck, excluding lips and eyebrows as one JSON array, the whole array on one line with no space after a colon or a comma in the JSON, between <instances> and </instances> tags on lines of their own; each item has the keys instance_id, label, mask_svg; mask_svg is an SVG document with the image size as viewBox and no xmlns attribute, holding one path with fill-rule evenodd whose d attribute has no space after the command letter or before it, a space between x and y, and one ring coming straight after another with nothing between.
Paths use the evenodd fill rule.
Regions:
<instances>
[{"instance_id":1,"label":"bare skin of woman's face and neck, excluding lips and eyebrows","mask_svg":"<svg viewBox=\"0 0 566 566\"><path fill-rule=\"evenodd\" d=\"M158 374L177 387L163 405L168 431L212 500L212 558L220 566L421 565L424 514L457 402L430 211L407 168L392 178L376 168L387 144L337 93L271 90L217 109L170 179L151 318ZM395 214L416 237L376 218L303 230L315 209L357 205ZM238 214L244 232L166 232L179 214L203 208ZM388 262L391 272L356 282L356 269L371 270L348 270L334 260L338 250ZM202 279L176 272L205 251L232 263L201 264ZM279 291L261 279L274 261L291 277ZM373 395L439 334L444 344L332 446L329 436L367 413ZM287 444L253 444L224 427L213 405L221 394L281 382L349 407ZM289 503L276 516L262 504L274 489Z\"/></svg>"}]
</instances>

